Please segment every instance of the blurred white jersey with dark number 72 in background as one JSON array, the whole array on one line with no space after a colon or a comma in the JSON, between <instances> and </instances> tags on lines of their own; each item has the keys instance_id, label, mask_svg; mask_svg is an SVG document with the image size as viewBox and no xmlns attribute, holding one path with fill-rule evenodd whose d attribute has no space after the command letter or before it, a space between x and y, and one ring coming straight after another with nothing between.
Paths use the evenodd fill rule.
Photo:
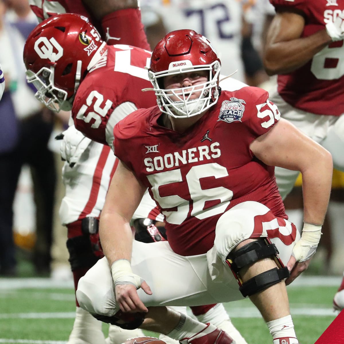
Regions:
<instances>
[{"instance_id":1,"label":"blurred white jersey with dark number 72 in background","mask_svg":"<svg viewBox=\"0 0 344 344\"><path fill-rule=\"evenodd\" d=\"M192 29L212 42L221 59L221 72L244 81L241 60L241 26L243 9L240 1L219 0L141 0L142 21L150 21L158 12L167 31ZM147 23L146 23L147 24Z\"/></svg>"}]
</instances>

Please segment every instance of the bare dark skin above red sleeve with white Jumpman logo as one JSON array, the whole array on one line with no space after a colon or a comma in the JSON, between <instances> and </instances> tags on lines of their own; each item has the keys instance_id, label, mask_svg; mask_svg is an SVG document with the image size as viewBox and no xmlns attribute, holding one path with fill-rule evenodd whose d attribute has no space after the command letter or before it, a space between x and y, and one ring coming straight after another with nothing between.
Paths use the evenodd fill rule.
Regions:
<instances>
[{"instance_id":1,"label":"bare dark skin above red sleeve with white Jumpman logo","mask_svg":"<svg viewBox=\"0 0 344 344\"><path fill-rule=\"evenodd\" d=\"M137 8L137 0L82 0L84 6L92 11L96 19L101 19L104 15L126 8Z\"/></svg>"}]
</instances>

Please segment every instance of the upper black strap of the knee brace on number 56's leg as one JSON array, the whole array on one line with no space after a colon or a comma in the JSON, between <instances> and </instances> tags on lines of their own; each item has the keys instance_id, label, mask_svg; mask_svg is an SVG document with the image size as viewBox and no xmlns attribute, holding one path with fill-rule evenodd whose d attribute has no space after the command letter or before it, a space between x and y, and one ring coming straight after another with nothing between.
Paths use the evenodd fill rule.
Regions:
<instances>
[{"instance_id":1,"label":"upper black strap of the knee brace on number 56's leg","mask_svg":"<svg viewBox=\"0 0 344 344\"><path fill-rule=\"evenodd\" d=\"M275 244L267 244L265 240L256 240L239 248L234 252L230 252L227 256L230 268L236 273L244 266L250 265L257 260L261 260L273 255L278 255Z\"/></svg>"}]
</instances>

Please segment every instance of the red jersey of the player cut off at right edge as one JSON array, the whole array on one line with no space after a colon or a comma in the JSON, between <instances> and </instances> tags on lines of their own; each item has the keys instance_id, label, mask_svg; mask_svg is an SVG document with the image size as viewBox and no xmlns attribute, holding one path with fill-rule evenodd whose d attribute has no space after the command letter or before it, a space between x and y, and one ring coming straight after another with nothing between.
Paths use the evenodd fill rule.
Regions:
<instances>
[{"instance_id":1,"label":"red jersey of the player cut off at right edge","mask_svg":"<svg viewBox=\"0 0 344 344\"><path fill-rule=\"evenodd\" d=\"M310 36L334 21L344 11L342 0L270 0L276 10L289 7L303 12L302 37ZM333 42L315 54L299 69L278 75L278 92L295 108L318 115L340 116L344 113L344 46Z\"/></svg>"}]
</instances>

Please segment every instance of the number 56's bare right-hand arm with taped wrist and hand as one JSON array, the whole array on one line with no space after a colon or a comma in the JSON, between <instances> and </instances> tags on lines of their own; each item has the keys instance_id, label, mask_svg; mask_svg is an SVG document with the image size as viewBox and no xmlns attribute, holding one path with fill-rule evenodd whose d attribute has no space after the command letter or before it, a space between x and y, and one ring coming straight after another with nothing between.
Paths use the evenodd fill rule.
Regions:
<instances>
[{"instance_id":1,"label":"number 56's bare right-hand arm with taped wrist and hand","mask_svg":"<svg viewBox=\"0 0 344 344\"><path fill-rule=\"evenodd\" d=\"M300 244L295 245L287 266L291 271L286 284L308 268L321 235L332 181L331 154L284 119L258 137L250 149L267 165L302 173L304 227Z\"/></svg>"}]
</instances>

